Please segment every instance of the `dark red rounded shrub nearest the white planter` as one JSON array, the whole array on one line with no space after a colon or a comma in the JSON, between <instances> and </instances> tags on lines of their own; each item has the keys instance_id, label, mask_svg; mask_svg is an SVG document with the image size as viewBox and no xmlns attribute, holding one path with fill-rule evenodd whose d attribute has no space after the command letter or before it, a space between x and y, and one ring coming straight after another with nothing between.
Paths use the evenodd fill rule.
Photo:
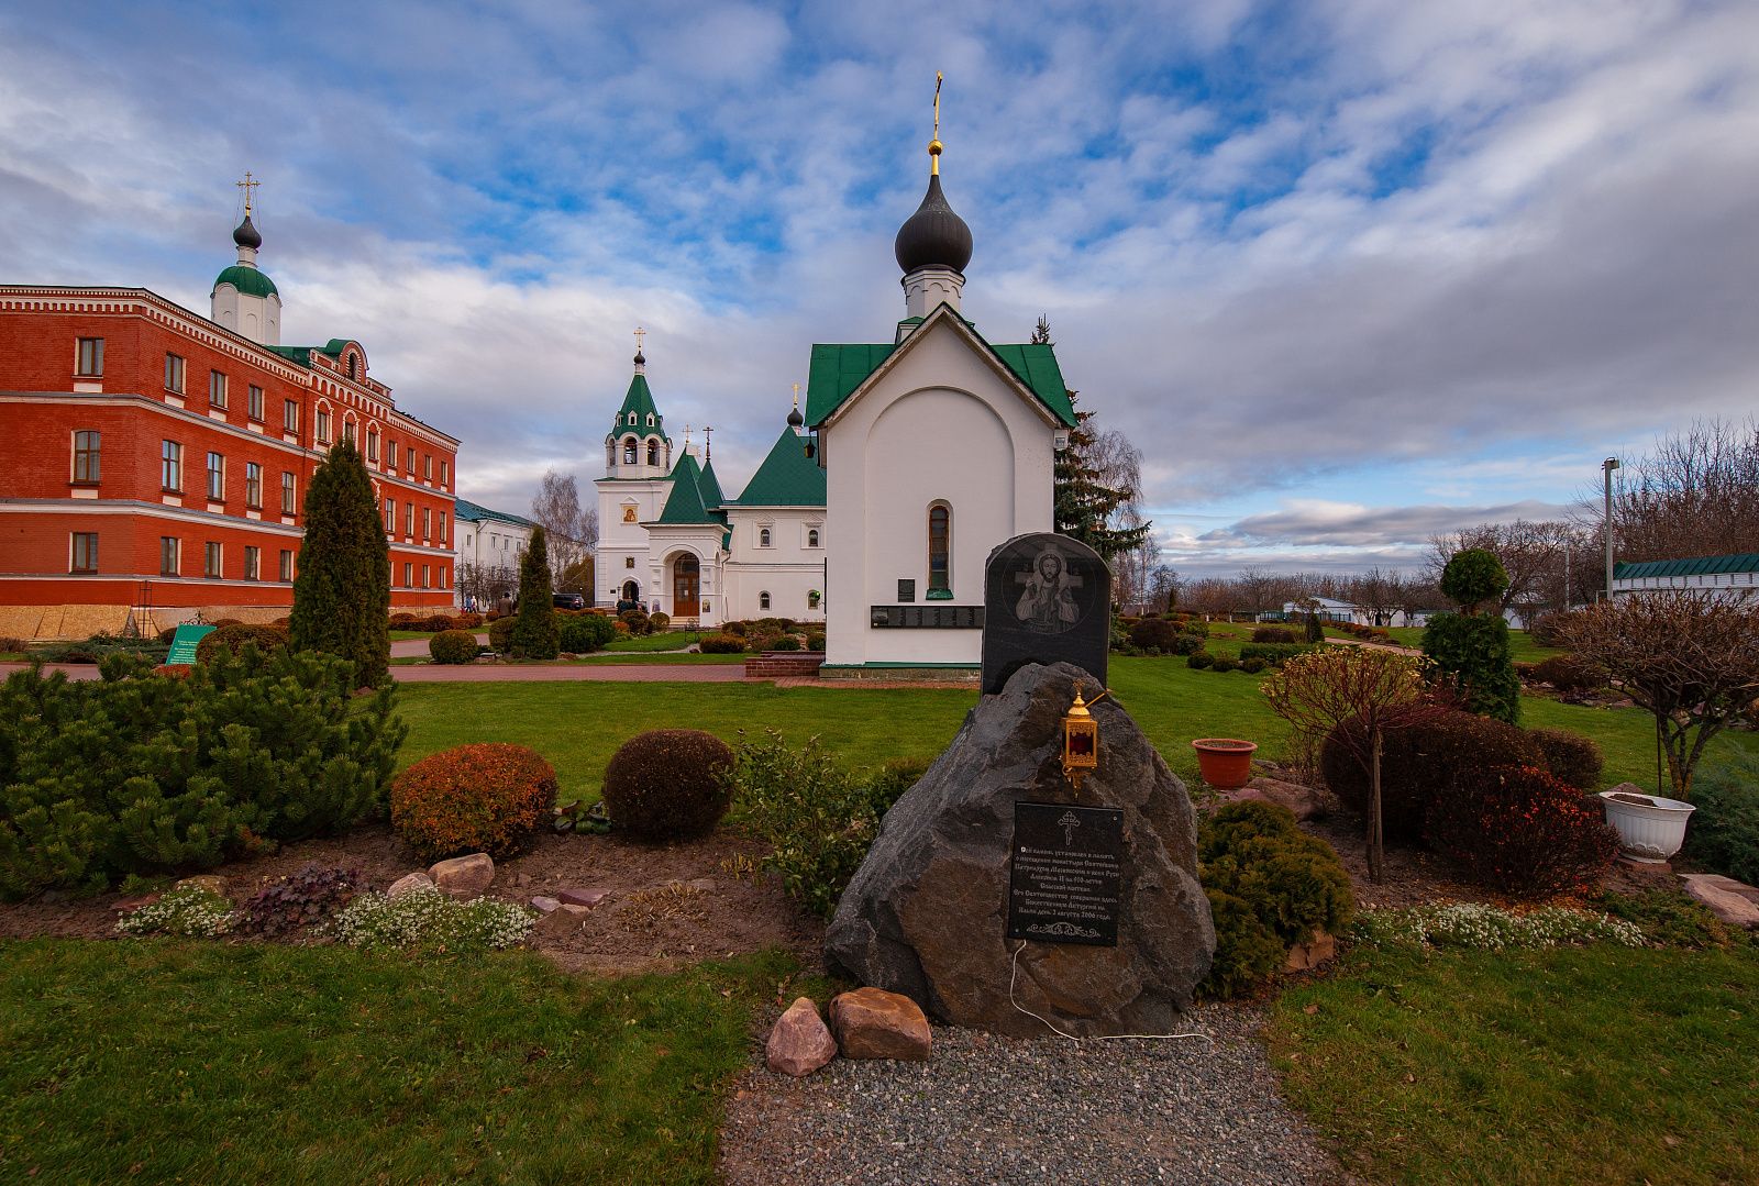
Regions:
<instances>
[{"instance_id":1,"label":"dark red rounded shrub nearest the white planter","mask_svg":"<svg viewBox=\"0 0 1759 1186\"><path fill-rule=\"evenodd\" d=\"M1467 771L1430 802L1425 831L1462 873L1516 896L1592 889L1618 855L1597 806L1536 765Z\"/></svg>"}]
</instances>

